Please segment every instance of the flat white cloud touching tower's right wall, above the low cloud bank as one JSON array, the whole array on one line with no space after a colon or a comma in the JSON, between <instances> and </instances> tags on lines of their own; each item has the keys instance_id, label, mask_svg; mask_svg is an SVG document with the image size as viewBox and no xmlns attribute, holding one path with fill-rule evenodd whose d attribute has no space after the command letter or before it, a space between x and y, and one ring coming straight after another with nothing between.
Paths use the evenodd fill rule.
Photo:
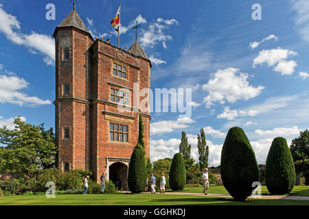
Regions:
<instances>
[{"instance_id":1,"label":"flat white cloud touching tower's right wall, above the low cloud bank","mask_svg":"<svg viewBox=\"0 0 309 219\"><path fill-rule=\"evenodd\" d=\"M172 132L174 129L185 129L192 123L195 123L195 121L186 116L177 120L163 120L157 123L150 123L150 135Z\"/></svg>"}]
</instances>

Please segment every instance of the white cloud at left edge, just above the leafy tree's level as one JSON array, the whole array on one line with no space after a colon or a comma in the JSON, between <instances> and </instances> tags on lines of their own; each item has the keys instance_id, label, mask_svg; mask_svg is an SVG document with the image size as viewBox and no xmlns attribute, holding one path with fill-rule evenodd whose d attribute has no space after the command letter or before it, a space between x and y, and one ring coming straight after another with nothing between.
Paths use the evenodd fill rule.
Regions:
<instances>
[{"instance_id":1,"label":"white cloud at left edge, just above the leafy tree's level","mask_svg":"<svg viewBox=\"0 0 309 219\"><path fill-rule=\"evenodd\" d=\"M30 105L32 107L51 104L49 100L44 101L36 96L28 96L19 91L27 88L27 86L29 86L29 83L23 78L0 75L0 103L14 103L20 106Z\"/></svg>"}]
</instances>

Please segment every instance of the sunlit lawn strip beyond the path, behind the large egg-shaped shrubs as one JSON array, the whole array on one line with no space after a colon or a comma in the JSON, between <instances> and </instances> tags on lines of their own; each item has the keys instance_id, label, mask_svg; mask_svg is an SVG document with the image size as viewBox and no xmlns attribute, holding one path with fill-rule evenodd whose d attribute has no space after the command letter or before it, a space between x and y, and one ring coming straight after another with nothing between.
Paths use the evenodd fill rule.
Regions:
<instances>
[{"instance_id":1,"label":"sunlit lawn strip beyond the path, behind the large egg-shaped shrubs","mask_svg":"<svg viewBox=\"0 0 309 219\"><path fill-rule=\"evenodd\" d=\"M166 190L166 192L172 192L172 190ZM184 190L179 192L190 192L190 193L202 193L203 187L186 187ZM262 195L269 196L271 195L266 185L262 185ZM219 186L209 186L208 193L213 194L229 194L223 185ZM295 185L290 196L309 196L309 185Z\"/></svg>"}]
</instances>

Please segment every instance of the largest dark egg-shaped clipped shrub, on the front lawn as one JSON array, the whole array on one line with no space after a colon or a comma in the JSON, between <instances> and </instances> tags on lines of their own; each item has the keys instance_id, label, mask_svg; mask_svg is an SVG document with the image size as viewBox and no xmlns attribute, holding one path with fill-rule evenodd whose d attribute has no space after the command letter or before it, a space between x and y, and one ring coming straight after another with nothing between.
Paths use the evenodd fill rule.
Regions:
<instances>
[{"instance_id":1,"label":"largest dark egg-shaped clipped shrub, on the front lawn","mask_svg":"<svg viewBox=\"0 0 309 219\"><path fill-rule=\"evenodd\" d=\"M225 189L236 201L251 195L252 183L260 180L251 144L240 127L229 129L222 147L220 172Z\"/></svg>"}]
</instances>

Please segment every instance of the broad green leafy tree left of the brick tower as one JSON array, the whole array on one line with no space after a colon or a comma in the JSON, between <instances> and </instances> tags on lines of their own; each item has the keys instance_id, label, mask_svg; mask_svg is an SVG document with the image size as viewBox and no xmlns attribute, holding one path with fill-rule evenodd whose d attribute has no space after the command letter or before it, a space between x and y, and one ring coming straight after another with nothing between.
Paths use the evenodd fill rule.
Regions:
<instances>
[{"instance_id":1,"label":"broad green leafy tree left of the brick tower","mask_svg":"<svg viewBox=\"0 0 309 219\"><path fill-rule=\"evenodd\" d=\"M0 128L1 149L0 172L16 172L23 177L44 168L55 166L57 148L53 129L45 131L44 124L39 126L25 123L15 118L13 130Z\"/></svg>"}]
</instances>

